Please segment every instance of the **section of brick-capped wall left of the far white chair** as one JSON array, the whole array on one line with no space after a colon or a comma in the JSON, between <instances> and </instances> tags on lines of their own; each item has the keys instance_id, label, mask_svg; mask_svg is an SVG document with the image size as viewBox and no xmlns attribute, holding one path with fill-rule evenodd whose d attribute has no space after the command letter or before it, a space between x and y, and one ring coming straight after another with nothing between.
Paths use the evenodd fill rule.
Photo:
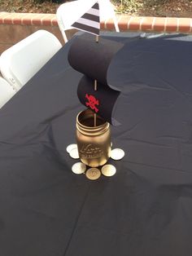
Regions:
<instances>
[{"instance_id":1,"label":"section of brick-capped wall left of the far white chair","mask_svg":"<svg viewBox=\"0 0 192 256\"><path fill-rule=\"evenodd\" d=\"M0 13L0 54L39 29L54 33L59 41L64 44L55 15ZM73 33L76 33L75 29L67 31L67 36L71 37Z\"/></svg>"}]
</instances>

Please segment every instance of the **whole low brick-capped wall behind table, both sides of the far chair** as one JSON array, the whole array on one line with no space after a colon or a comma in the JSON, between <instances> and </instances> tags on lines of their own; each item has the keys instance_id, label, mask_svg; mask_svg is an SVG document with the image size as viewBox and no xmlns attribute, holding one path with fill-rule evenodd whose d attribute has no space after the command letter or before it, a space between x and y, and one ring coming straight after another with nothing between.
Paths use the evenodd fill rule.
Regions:
<instances>
[{"instance_id":1,"label":"whole low brick-capped wall behind table, both sides of the far chair","mask_svg":"<svg viewBox=\"0 0 192 256\"><path fill-rule=\"evenodd\" d=\"M168 33L192 33L192 19L168 17L117 16L120 31L147 31ZM38 29L54 33L63 44L55 14L7 13L0 12L0 53L28 37ZM114 30L112 20L101 24L101 29ZM75 30L68 31L70 35Z\"/></svg>"}]
</instances>

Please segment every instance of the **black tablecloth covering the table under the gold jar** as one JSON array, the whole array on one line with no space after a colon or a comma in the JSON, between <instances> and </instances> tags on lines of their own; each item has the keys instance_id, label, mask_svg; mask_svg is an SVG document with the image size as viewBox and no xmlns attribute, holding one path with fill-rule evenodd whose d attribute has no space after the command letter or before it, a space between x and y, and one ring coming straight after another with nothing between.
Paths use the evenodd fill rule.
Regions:
<instances>
[{"instance_id":1,"label":"black tablecloth covering the table under the gold jar","mask_svg":"<svg viewBox=\"0 0 192 256\"><path fill-rule=\"evenodd\" d=\"M192 254L191 37L169 38L167 55L159 38L112 39L126 44L108 77L122 90L115 176L71 170L65 148L84 109L71 42L0 110L1 256Z\"/></svg>"}]
</instances>

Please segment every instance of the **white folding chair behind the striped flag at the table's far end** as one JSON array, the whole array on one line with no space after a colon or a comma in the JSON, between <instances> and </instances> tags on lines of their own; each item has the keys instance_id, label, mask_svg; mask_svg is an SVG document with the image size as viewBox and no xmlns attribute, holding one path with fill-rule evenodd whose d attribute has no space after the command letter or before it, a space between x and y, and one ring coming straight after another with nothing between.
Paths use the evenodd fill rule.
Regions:
<instances>
[{"instance_id":1,"label":"white folding chair behind the striped flag at the table's far end","mask_svg":"<svg viewBox=\"0 0 192 256\"><path fill-rule=\"evenodd\" d=\"M72 24L78 20L85 11L88 11L94 5L94 0L77 0L72 2L64 2L56 11L56 17L59 24L59 29L63 35L65 42L68 42L66 30L72 29ZM116 20L116 13L114 7L109 0L98 0L100 21L112 19L116 32L120 32Z\"/></svg>"}]
</instances>

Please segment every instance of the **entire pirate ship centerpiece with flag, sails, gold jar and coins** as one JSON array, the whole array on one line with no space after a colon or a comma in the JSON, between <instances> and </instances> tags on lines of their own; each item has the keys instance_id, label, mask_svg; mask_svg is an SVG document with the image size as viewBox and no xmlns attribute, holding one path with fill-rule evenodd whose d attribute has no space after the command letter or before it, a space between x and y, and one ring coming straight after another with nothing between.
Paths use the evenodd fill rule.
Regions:
<instances>
[{"instance_id":1,"label":"entire pirate ship centerpiece with flag, sails, gold jar and coins","mask_svg":"<svg viewBox=\"0 0 192 256\"><path fill-rule=\"evenodd\" d=\"M122 44L103 38L98 42L100 29L98 2L95 2L94 6L81 15L81 18L72 26L89 33L74 38L68 52L69 64L83 73L77 95L81 104L86 107L76 117L77 148L72 148L72 153L70 150L68 152L71 156L73 155L73 158L80 157L84 164L75 164L72 167L74 172L77 174L85 172L86 165L92 167L87 170L88 178L98 178L100 174L96 167L105 165L111 157L110 126L119 124L112 118L112 113L120 91L108 85L107 69ZM93 34L96 35L96 40ZM120 154L124 156L124 152ZM103 174L109 174L109 172L115 174L114 168L110 165L103 166Z\"/></svg>"}]
</instances>

